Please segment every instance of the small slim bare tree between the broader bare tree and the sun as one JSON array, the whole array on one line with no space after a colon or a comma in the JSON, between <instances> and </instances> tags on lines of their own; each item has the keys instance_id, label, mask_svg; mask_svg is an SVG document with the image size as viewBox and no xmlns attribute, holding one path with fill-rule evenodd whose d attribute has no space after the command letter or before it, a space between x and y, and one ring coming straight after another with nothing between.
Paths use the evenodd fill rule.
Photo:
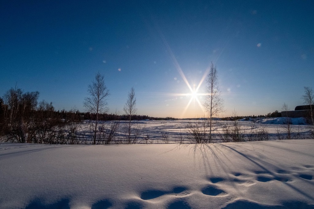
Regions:
<instances>
[{"instance_id":1,"label":"small slim bare tree between the broader bare tree and the sun","mask_svg":"<svg viewBox=\"0 0 314 209\"><path fill-rule=\"evenodd\" d=\"M127 142L131 143L131 132L132 132L132 115L135 115L137 112L136 108L136 97L135 97L135 90L132 87L129 91L129 94L127 95L127 102L125 103L123 107L123 111L128 117L128 124L126 127L126 133L127 133Z\"/></svg>"}]
</instances>

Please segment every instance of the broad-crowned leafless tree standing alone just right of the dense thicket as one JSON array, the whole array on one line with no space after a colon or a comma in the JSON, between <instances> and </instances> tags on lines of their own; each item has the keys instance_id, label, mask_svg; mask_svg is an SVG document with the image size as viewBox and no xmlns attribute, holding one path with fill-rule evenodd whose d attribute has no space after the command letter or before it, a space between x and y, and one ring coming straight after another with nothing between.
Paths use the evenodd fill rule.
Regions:
<instances>
[{"instance_id":1,"label":"broad-crowned leafless tree standing alone just right of the dense thicket","mask_svg":"<svg viewBox=\"0 0 314 209\"><path fill-rule=\"evenodd\" d=\"M104 76L98 72L95 76L95 81L88 85L87 89L89 97L85 98L84 107L90 113L95 115L95 120L91 121L91 129L93 134L93 144L96 144L97 126L99 123L99 115L108 112L107 97L109 90L107 89L104 81Z\"/></svg>"}]
</instances>

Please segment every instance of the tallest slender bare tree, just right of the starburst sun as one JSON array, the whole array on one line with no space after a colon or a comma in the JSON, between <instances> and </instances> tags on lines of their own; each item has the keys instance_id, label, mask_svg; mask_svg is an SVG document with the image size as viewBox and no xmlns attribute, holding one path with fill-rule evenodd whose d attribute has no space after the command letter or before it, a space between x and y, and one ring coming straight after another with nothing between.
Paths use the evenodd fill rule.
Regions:
<instances>
[{"instance_id":1,"label":"tallest slender bare tree, just right of the starburst sun","mask_svg":"<svg viewBox=\"0 0 314 209\"><path fill-rule=\"evenodd\" d=\"M219 113L224 111L224 100L221 98L221 92L218 88L218 75L216 66L213 62L210 65L210 72L207 78L207 86L205 89L207 96L205 97L204 107L209 116L209 142L212 141L213 117L217 117Z\"/></svg>"}]
</instances>

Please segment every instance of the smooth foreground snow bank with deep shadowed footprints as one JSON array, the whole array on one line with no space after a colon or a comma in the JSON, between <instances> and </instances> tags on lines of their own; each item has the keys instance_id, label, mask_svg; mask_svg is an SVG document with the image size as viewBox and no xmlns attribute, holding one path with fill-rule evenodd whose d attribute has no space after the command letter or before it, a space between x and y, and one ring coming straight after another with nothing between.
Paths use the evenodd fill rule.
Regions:
<instances>
[{"instance_id":1,"label":"smooth foreground snow bank with deep shadowed footprints","mask_svg":"<svg viewBox=\"0 0 314 209\"><path fill-rule=\"evenodd\" d=\"M0 208L314 208L314 140L0 143Z\"/></svg>"}]
</instances>

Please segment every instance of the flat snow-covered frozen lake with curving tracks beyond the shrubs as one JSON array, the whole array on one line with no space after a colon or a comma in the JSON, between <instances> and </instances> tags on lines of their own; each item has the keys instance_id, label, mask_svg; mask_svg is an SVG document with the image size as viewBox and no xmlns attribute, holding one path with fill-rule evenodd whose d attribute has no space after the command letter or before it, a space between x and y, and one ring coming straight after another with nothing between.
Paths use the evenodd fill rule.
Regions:
<instances>
[{"instance_id":1,"label":"flat snow-covered frozen lake with curving tracks beyond the shrubs","mask_svg":"<svg viewBox=\"0 0 314 209\"><path fill-rule=\"evenodd\" d=\"M112 123L113 121L101 121L100 126L106 130ZM126 137L125 126L128 121L117 123L119 123L119 127L112 143L123 143L123 139ZM194 142L197 134L208 135L208 123L209 121L205 120L132 121L132 129L137 131L138 143L190 143ZM89 137L88 126L89 121L84 121L79 132L80 137L85 140ZM252 139L253 136L256 138L261 133L267 140L287 139L289 132L291 139L311 138L309 126L304 124L288 126L287 124L269 124L269 121L268 123L213 121L211 142L223 142L226 134L231 137L235 133L242 137L241 141L261 141Z\"/></svg>"}]
</instances>

